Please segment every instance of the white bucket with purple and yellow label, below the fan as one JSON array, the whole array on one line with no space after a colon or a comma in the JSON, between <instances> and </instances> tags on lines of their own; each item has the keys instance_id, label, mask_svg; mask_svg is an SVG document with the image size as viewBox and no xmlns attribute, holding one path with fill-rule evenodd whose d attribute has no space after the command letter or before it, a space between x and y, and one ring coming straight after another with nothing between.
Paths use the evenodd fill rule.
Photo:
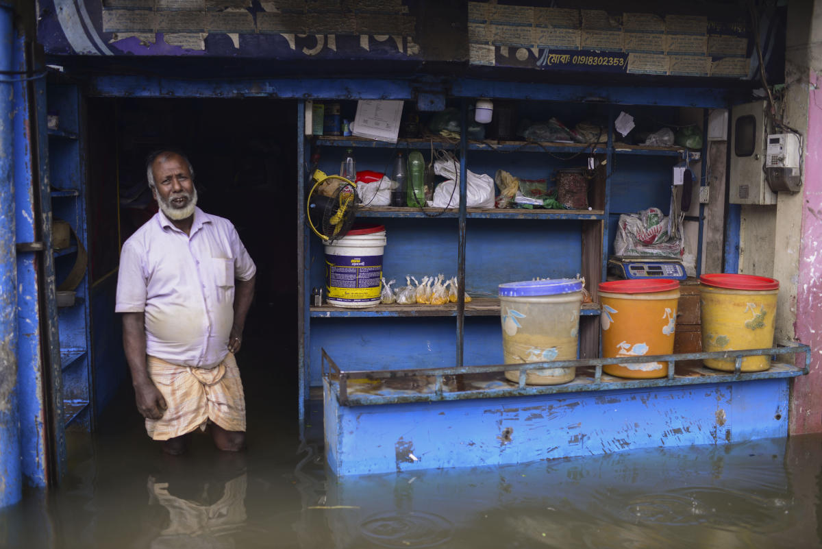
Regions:
<instances>
[{"instance_id":1,"label":"white bucket with purple and yellow label, below the fan","mask_svg":"<svg viewBox=\"0 0 822 549\"><path fill-rule=\"evenodd\" d=\"M343 238L326 244L326 302L336 307L380 303L384 225L354 225Z\"/></svg>"}]
</instances>

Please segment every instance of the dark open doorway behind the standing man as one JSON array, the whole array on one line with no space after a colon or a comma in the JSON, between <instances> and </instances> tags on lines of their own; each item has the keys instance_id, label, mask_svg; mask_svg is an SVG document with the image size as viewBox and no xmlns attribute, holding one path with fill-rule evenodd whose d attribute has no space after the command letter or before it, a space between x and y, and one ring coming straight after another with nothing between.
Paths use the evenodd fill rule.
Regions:
<instances>
[{"instance_id":1,"label":"dark open doorway behind the standing man","mask_svg":"<svg viewBox=\"0 0 822 549\"><path fill-rule=\"evenodd\" d=\"M89 99L86 114L92 286L99 281L111 293L122 242L156 211L145 157L164 147L184 151L195 170L198 205L234 224L257 266L256 298L238 354L249 413L266 403L296 422L296 102ZM139 422L130 409L119 331L112 329L120 319L108 305L92 314L98 417L118 422L127 414L128 422ZM109 407L129 399L131 407ZM254 424L250 417L250 431Z\"/></svg>"}]
</instances>

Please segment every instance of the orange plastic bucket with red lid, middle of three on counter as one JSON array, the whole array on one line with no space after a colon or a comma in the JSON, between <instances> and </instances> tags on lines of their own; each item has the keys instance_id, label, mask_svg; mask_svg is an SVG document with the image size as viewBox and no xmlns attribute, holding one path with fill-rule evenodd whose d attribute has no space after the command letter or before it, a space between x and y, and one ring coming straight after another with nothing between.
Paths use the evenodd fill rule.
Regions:
<instances>
[{"instance_id":1,"label":"orange plastic bucket with red lid, middle of three on counter","mask_svg":"<svg viewBox=\"0 0 822 549\"><path fill-rule=\"evenodd\" d=\"M672 354L679 282L667 279L614 280L599 284L603 305L603 358ZM605 364L612 376L651 379L667 376L667 362Z\"/></svg>"}]
</instances>

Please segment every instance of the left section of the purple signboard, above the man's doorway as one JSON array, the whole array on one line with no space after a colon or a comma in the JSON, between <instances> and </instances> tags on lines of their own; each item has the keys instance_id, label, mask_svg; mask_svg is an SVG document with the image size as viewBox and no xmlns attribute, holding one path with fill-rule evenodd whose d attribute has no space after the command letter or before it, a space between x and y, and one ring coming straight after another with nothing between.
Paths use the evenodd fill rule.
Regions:
<instances>
[{"instance_id":1,"label":"left section of the purple signboard, above the man's doorway","mask_svg":"<svg viewBox=\"0 0 822 549\"><path fill-rule=\"evenodd\" d=\"M40 0L38 40L53 55L413 59L422 58L417 7L404 0Z\"/></svg>"}]
</instances>

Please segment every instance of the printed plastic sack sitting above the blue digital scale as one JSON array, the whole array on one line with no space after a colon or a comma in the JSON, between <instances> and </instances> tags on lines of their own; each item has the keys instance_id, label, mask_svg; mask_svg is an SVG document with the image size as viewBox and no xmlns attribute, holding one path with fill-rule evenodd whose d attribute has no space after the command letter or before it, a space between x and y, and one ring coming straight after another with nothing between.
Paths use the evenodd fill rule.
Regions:
<instances>
[{"instance_id":1,"label":"printed plastic sack sitting above the blue digital scale","mask_svg":"<svg viewBox=\"0 0 822 549\"><path fill-rule=\"evenodd\" d=\"M619 216L614 238L617 256L680 257L682 250L682 238L670 237L667 218L658 208Z\"/></svg>"}]
</instances>

